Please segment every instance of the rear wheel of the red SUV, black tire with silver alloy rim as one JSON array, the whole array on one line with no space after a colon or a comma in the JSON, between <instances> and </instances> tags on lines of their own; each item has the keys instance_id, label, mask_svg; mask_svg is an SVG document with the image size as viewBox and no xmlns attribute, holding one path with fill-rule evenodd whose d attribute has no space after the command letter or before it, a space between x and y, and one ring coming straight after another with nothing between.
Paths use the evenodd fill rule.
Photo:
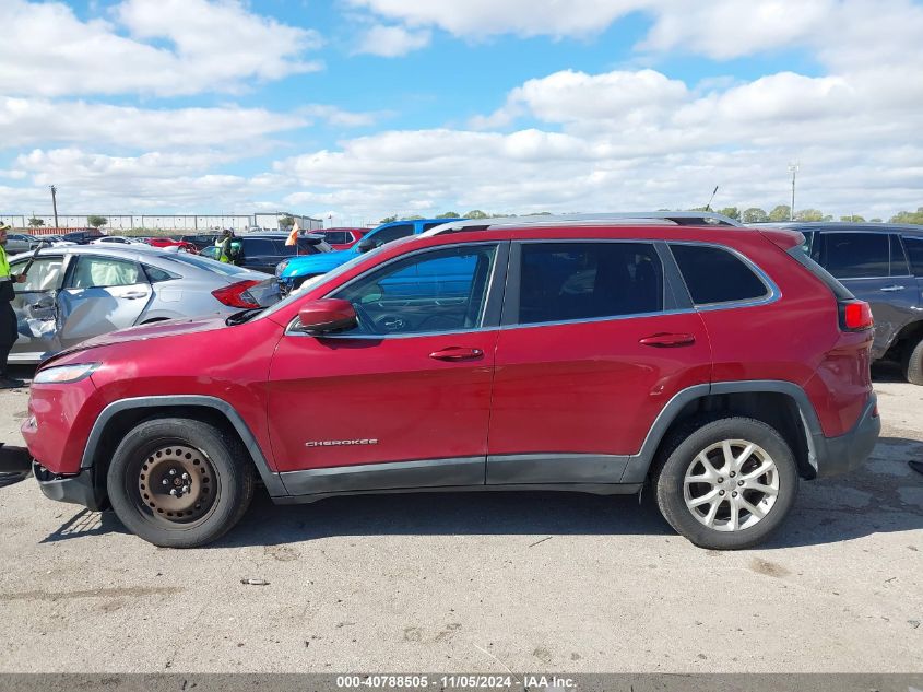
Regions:
<instances>
[{"instance_id":1,"label":"rear wheel of the red SUV, black tire with silver alloy rim","mask_svg":"<svg viewBox=\"0 0 923 692\"><path fill-rule=\"evenodd\" d=\"M654 482L658 506L677 532L701 548L736 550L756 546L782 524L798 473L774 429L725 418L674 436Z\"/></svg>"}]
</instances>

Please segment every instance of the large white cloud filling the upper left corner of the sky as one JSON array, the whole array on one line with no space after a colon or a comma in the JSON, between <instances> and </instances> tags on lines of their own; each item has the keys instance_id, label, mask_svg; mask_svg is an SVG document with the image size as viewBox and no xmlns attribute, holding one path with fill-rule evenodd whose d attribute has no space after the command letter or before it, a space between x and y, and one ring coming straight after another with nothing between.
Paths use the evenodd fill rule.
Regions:
<instances>
[{"instance_id":1,"label":"large white cloud filling the upper left corner of the sky","mask_svg":"<svg viewBox=\"0 0 923 692\"><path fill-rule=\"evenodd\" d=\"M321 68L304 58L321 43L316 32L253 14L239 0L123 0L111 16L82 21L60 2L3 0L0 92L233 92Z\"/></svg>"}]
</instances>

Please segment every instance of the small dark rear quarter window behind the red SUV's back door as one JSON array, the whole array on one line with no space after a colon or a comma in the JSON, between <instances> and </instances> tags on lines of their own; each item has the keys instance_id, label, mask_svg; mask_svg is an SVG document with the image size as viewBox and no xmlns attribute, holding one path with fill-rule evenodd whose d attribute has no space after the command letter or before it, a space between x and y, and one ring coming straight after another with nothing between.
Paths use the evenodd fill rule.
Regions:
<instances>
[{"instance_id":1,"label":"small dark rear quarter window behind the red SUV's back door","mask_svg":"<svg viewBox=\"0 0 923 692\"><path fill-rule=\"evenodd\" d=\"M769 286L739 257L710 245L671 244L696 305L739 303L769 295Z\"/></svg>"}]
</instances>

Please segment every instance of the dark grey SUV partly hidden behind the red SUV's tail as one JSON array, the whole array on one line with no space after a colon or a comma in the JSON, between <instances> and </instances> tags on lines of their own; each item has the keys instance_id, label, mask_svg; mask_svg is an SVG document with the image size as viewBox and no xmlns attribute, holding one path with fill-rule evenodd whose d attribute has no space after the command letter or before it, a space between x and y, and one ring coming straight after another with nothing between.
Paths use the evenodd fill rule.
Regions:
<instances>
[{"instance_id":1,"label":"dark grey SUV partly hidden behind the red SUV's tail","mask_svg":"<svg viewBox=\"0 0 923 692\"><path fill-rule=\"evenodd\" d=\"M923 227L887 223L772 224L804 234L804 249L875 317L874 360L900 363L923 385Z\"/></svg>"}]
</instances>

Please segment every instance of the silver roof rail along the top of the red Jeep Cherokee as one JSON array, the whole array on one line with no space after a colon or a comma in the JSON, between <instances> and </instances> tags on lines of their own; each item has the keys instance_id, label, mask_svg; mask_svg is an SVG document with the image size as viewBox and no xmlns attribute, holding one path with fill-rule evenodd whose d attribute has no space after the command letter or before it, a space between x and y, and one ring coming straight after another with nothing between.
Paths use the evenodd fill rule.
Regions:
<instances>
[{"instance_id":1,"label":"silver roof rail along the top of the red Jeep Cherokee","mask_svg":"<svg viewBox=\"0 0 923 692\"><path fill-rule=\"evenodd\" d=\"M730 216L712 211L628 211L607 214L564 214L541 216L502 216L497 219L469 219L452 221L426 231L424 237L462 231L514 228L522 226L608 226L608 225L662 225L677 226L733 226L744 227Z\"/></svg>"}]
</instances>

